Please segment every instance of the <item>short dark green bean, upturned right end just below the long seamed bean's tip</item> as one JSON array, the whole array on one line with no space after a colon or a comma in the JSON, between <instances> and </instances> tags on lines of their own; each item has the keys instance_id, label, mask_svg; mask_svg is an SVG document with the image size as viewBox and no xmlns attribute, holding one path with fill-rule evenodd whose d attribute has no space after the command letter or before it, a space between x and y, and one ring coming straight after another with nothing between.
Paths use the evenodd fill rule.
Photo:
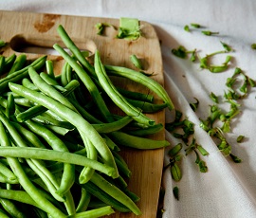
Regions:
<instances>
[{"instance_id":1,"label":"short dark green bean, upturned right end just below the long seamed bean's tip","mask_svg":"<svg viewBox=\"0 0 256 218\"><path fill-rule=\"evenodd\" d=\"M118 131L124 126L126 126L129 122L131 122L133 118L131 117L124 117L120 118L117 121L110 122L110 123L99 123L99 124L92 124L93 127L101 134L108 134L114 131Z\"/></svg>"}]
</instances>

